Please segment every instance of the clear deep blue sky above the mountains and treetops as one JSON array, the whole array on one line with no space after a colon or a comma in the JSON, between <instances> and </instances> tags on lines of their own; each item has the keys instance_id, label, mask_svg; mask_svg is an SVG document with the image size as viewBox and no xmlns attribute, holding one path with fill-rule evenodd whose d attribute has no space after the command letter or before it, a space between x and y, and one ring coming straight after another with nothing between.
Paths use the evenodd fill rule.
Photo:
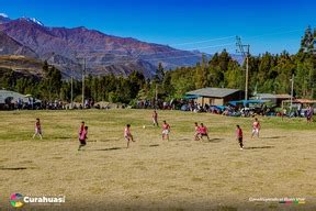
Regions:
<instances>
[{"instance_id":1,"label":"clear deep blue sky above the mountains and treetops","mask_svg":"<svg viewBox=\"0 0 316 211\"><path fill-rule=\"evenodd\" d=\"M275 54L297 52L306 26L316 24L316 1L0 0L0 13L206 53L235 53L239 35L252 54Z\"/></svg>"}]
</instances>

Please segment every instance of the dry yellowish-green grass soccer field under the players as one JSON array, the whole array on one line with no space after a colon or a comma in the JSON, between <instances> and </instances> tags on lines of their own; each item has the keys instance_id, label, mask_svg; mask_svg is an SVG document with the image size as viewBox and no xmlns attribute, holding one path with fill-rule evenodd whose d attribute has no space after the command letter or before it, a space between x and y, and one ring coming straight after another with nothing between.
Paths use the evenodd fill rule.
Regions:
<instances>
[{"instance_id":1,"label":"dry yellowish-green grass soccer field under the players","mask_svg":"<svg viewBox=\"0 0 316 211\"><path fill-rule=\"evenodd\" d=\"M162 142L151 112L0 112L0 210L12 209L14 192L66 196L65 204L45 210L316 209L315 123L259 116L261 137L251 140L252 119L158 111L159 122L171 125L170 142ZM36 118L42 141L31 138ZM78 152L82 120L89 140ZM195 121L208 127L211 142L193 141ZM123 137L127 123L136 140L128 149ZM244 151L235 140L237 123ZM249 201L260 197L305 198L305 204Z\"/></svg>"}]
</instances>

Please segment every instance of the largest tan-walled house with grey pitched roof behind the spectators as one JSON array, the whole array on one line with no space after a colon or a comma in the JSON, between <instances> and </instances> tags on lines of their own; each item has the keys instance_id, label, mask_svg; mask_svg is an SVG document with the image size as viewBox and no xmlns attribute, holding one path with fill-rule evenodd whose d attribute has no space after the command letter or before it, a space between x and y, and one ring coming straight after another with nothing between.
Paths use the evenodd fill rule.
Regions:
<instances>
[{"instance_id":1,"label":"largest tan-walled house with grey pitched roof behind the spectators","mask_svg":"<svg viewBox=\"0 0 316 211\"><path fill-rule=\"evenodd\" d=\"M198 103L204 106L225 106L232 100L241 100L245 92L239 89L226 88L203 88L185 93L187 99L194 99Z\"/></svg>"}]
</instances>

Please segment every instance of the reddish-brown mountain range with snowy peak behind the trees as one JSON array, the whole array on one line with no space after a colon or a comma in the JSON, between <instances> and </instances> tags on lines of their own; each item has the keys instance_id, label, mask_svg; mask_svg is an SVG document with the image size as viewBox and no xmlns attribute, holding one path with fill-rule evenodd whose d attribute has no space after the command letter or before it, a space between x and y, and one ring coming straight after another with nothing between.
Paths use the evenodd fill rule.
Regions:
<instances>
[{"instance_id":1,"label":"reddish-brown mountain range with snowy peak behind the trees","mask_svg":"<svg viewBox=\"0 0 316 211\"><path fill-rule=\"evenodd\" d=\"M86 27L48 27L30 18L11 20L0 15L0 55L24 55L47 60L64 77L79 78L83 66L88 74L127 76L133 70L153 77L158 63L165 69L193 66L200 52L108 35Z\"/></svg>"}]
</instances>

